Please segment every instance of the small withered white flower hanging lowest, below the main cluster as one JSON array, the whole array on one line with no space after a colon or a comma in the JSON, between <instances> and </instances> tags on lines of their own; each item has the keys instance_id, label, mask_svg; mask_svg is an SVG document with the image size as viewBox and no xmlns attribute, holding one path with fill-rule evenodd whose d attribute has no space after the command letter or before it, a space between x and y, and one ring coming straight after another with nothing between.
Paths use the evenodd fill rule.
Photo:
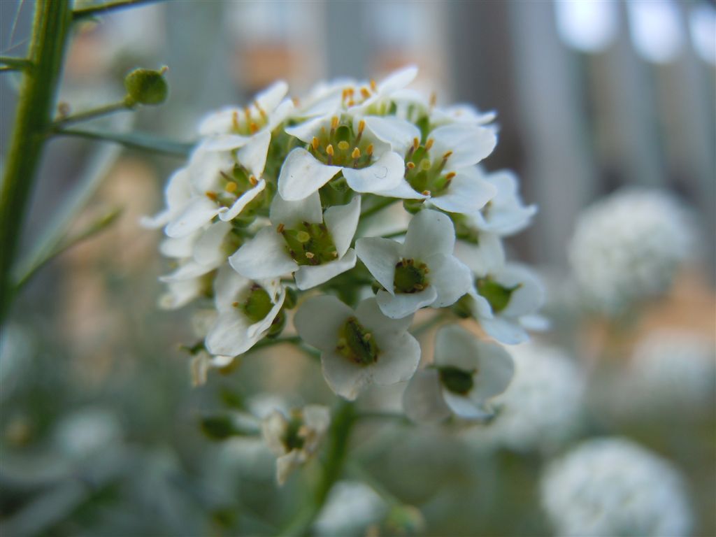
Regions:
<instances>
[{"instance_id":1,"label":"small withered white flower hanging lowest, below the main cluster","mask_svg":"<svg viewBox=\"0 0 716 537\"><path fill-rule=\"evenodd\" d=\"M278 455L276 480L286 483L289 474L306 463L321 447L331 422L326 407L306 405L293 410L287 418L278 410L263 419L261 430L269 449Z\"/></svg>"}]
</instances>

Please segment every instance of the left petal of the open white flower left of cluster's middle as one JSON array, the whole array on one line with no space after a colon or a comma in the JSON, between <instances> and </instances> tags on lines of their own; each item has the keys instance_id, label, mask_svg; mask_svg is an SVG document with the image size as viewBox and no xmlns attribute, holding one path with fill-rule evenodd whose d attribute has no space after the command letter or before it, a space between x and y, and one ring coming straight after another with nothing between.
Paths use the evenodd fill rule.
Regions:
<instances>
[{"instance_id":1,"label":"left petal of the open white flower left of cluster's middle","mask_svg":"<svg viewBox=\"0 0 716 537\"><path fill-rule=\"evenodd\" d=\"M272 227L263 228L228 258L233 269L249 279L276 278L296 271L284 238Z\"/></svg>"}]
</instances>

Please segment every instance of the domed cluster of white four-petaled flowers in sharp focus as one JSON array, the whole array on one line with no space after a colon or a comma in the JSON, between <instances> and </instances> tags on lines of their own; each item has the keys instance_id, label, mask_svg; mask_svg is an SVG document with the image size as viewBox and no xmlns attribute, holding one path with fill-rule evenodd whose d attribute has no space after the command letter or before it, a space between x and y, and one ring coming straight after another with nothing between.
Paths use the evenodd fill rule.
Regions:
<instances>
[{"instance_id":1,"label":"domed cluster of white four-petaled flowers in sharp focus","mask_svg":"<svg viewBox=\"0 0 716 537\"><path fill-rule=\"evenodd\" d=\"M407 88L416 74L319 84L301 100L278 82L200 123L165 210L145 221L164 228L160 250L175 261L161 305L213 300L193 348L199 382L263 339L291 334L320 351L326 382L344 399L410 380L412 420L490 416L488 400L513 374L508 352L453 323L418 369L410 328L421 309L473 318L503 344L543 325L540 284L505 260L502 245L536 208L521 202L513 173L478 166L497 143L495 115L438 107ZM395 231L400 222L408 223ZM371 231L377 223L393 231ZM323 416L312 431L304 415L274 416L264 429L274 446L286 432L276 451L300 451L293 461L327 427Z\"/></svg>"}]
</instances>

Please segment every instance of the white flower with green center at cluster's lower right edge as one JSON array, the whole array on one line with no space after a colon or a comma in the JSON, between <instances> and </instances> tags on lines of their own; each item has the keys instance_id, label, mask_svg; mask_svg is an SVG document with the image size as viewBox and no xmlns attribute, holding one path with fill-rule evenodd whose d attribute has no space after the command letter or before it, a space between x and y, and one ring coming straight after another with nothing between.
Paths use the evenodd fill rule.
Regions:
<instances>
[{"instance_id":1,"label":"white flower with green center at cluster's lower right edge","mask_svg":"<svg viewBox=\"0 0 716 537\"><path fill-rule=\"evenodd\" d=\"M529 339L527 329L546 329L547 321L536 314L544 302L544 288L529 269L507 263L493 274L479 276L485 271L482 264L473 265L479 258L465 257L463 261L477 276L468 292L470 310L490 337L517 344Z\"/></svg>"}]
</instances>

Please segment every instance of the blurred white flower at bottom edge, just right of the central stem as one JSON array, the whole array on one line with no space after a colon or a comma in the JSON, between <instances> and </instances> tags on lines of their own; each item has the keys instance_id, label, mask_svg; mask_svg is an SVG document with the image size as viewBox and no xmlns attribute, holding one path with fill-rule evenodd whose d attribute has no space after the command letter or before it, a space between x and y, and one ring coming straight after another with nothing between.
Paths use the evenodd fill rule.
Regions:
<instances>
[{"instance_id":1,"label":"blurred white flower at bottom edge, just right of the central stem","mask_svg":"<svg viewBox=\"0 0 716 537\"><path fill-rule=\"evenodd\" d=\"M339 481L316 518L314 530L325 537L364 536L367 528L379 523L386 512L384 500L368 485Z\"/></svg>"}]
</instances>

